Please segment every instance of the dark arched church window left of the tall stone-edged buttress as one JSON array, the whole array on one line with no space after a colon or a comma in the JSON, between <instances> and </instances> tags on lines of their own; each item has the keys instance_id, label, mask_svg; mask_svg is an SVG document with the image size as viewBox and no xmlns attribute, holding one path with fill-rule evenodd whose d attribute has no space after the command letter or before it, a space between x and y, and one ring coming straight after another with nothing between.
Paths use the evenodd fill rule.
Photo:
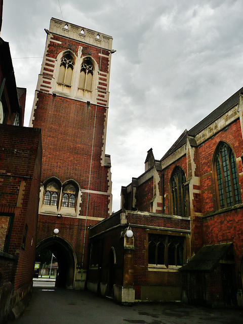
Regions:
<instances>
[{"instance_id":1,"label":"dark arched church window left of the tall stone-edged buttress","mask_svg":"<svg viewBox=\"0 0 243 324\"><path fill-rule=\"evenodd\" d=\"M186 216L185 183L185 173L177 167L171 176L172 212L174 215Z\"/></svg>"}]
</instances>

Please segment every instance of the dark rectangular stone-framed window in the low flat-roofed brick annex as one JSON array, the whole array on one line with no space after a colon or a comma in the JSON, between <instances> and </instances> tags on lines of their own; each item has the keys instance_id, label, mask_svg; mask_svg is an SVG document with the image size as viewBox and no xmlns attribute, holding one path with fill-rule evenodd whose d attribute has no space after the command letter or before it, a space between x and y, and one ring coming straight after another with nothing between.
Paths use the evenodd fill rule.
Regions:
<instances>
[{"instance_id":1,"label":"dark rectangular stone-framed window in the low flat-roofed brick annex","mask_svg":"<svg viewBox=\"0 0 243 324\"><path fill-rule=\"evenodd\" d=\"M148 234L148 264L182 266L184 236Z\"/></svg>"}]
</instances>

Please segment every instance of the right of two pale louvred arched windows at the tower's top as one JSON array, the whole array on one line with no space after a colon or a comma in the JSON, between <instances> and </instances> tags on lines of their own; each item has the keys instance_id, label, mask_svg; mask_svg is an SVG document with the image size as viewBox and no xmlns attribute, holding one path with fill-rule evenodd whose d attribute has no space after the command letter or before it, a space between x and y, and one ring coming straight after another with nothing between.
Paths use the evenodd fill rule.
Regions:
<instances>
[{"instance_id":1,"label":"right of two pale louvred arched windows at the tower's top","mask_svg":"<svg viewBox=\"0 0 243 324\"><path fill-rule=\"evenodd\" d=\"M93 75L94 65L90 59L86 59L81 65L78 83L78 89L83 91L83 95L92 92Z\"/></svg>"}]
</instances>

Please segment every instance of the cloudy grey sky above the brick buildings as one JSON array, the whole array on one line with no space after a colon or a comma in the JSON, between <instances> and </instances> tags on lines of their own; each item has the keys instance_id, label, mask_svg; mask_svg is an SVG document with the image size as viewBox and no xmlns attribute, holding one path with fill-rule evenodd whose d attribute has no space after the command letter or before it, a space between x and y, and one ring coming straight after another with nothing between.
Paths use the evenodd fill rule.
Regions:
<instances>
[{"instance_id":1,"label":"cloudy grey sky above the brick buildings","mask_svg":"<svg viewBox=\"0 0 243 324\"><path fill-rule=\"evenodd\" d=\"M51 17L113 36L106 153L117 211L121 186L144 172L151 147L160 159L243 86L243 2L4 0L1 37L27 88L25 126Z\"/></svg>"}]
</instances>

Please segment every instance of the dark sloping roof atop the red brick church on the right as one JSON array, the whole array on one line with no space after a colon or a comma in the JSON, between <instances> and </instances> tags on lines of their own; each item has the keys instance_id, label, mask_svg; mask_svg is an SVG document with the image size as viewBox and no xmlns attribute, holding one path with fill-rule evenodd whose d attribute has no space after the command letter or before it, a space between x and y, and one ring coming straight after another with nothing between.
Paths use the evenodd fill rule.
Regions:
<instances>
[{"instance_id":1,"label":"dark sloping roof atop the red brick church on the right","mask_svg":"<svg viewBox=\"0 0 243 324\"><path fill-rule=\"evenodd\" d=\"M160 159L163 160L172 152L176 151L179 147L186 143L187 135L195 136L210 124L212 124L216 119L218 119L222 114L230 110L234 107L239 101L239 95L243 93L243 88L240 88L237 92L235 92L231 97L229 97L225 102L223 102L218 108L212 111L208 116L206 116L203 120L199 121L198 124L193 126L189 131L185 130L178 140L171 146L171 148L166 152L166 154Z\"/></svg>"}]
</instances>

